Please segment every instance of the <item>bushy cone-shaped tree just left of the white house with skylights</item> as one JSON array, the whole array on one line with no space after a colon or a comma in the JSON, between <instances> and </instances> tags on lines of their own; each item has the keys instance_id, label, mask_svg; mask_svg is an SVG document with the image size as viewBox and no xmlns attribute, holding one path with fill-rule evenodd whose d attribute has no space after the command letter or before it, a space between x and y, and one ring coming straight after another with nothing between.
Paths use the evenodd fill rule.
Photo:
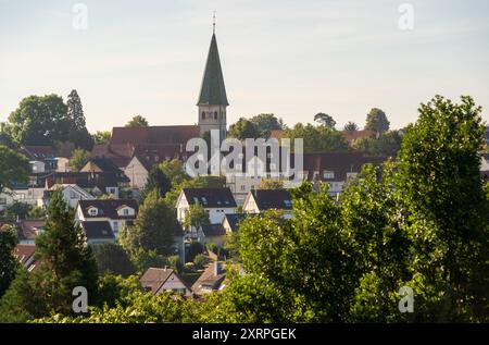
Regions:
<instances>
[{"instance_id":1,"label":"bushy cone-shaped tree just left of the white house with skylights","mask_svg":"<svg viewBox=\"0 0 489 345\"><path fill-rule=\"evenodd\" d=\"M139 208L135 225L127 231L127 247L133 254L138 248L172 252L174 235L179 225L173 209L168 208L158 190L151 190Z\"/></svg>"}]
</instances>

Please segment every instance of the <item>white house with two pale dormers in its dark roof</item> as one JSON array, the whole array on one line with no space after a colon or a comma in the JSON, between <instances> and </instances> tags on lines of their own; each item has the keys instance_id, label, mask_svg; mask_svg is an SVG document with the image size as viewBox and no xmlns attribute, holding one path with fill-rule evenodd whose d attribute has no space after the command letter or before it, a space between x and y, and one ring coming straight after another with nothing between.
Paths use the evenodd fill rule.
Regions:
<instances>
[{"instance_id":1,"label":"white house with two pale dormers in its dark roof","mask_svg":"<svg viewBox=\"0 0 489 345\"><path fill-rule=\"evenodd\" d=\"M138 205L133 199L79 200L75 220L83 222L109 222L115 236L124 225L131 226Z\"/></svg>"}]
</instances>

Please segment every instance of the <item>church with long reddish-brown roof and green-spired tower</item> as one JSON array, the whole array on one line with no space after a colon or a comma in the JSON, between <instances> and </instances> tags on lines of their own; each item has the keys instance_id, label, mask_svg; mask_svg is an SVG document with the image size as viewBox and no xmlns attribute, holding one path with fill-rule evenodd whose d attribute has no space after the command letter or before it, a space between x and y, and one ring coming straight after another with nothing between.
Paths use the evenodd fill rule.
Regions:
<instances>
[{"instance_id":1,"label":"church with long reddish-brown roof and green-spired tower","mask_svg":"<svg viewBox=\"0 0 489 345\"><path fill-rule=\"evenodd\" d=\"M91 157L110 159L123 169L135 156L147 167L168 159L185 160L185 147L189 139L202 137L212 130L220 131L221 140L226 137L228 106L214 23L197 102L197 125L113 127L109 144L96 145Z\"/></svg>"}]
</instances>

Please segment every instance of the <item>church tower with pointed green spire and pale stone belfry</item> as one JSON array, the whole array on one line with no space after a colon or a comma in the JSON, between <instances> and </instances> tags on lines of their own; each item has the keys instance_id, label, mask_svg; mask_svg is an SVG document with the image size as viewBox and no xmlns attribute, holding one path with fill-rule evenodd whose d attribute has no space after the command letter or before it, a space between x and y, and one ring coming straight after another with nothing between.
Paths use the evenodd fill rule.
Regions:
<instances>
[{"instance_id":1,"label":"church tower with pointed green spire and pale stone belfry","mask_svg":"<svg viewBox=\"0 0 489 345\"><path fill-rule=\"evenodd\" d=\"M200 135L211 130L220 130L221 140L226 138L226 108L229 103L215 38L215 21L197 106L199 107Z\"/></svg>"}]
</instances>

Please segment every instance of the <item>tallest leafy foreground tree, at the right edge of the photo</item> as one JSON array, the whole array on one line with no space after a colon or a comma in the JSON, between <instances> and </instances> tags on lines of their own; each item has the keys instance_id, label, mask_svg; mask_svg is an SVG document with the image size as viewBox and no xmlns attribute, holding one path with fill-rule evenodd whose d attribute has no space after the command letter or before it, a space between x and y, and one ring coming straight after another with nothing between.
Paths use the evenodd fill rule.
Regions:
<instances>
[{"instance_id":1,"label":"tallest leafy foreground tree, at the right edge of the photo","mask_svg":"<svg viewBox=\"0 0 489 345\"><path fill-rule=\"evenodd\" d=\"M413 242L408 285L418 321L489 318L488 198L478 150L485 127L471 97L419 107L399 152L396 189ZM485 287L484 287L485 286Z\"/></svg>"}]
</instances>

